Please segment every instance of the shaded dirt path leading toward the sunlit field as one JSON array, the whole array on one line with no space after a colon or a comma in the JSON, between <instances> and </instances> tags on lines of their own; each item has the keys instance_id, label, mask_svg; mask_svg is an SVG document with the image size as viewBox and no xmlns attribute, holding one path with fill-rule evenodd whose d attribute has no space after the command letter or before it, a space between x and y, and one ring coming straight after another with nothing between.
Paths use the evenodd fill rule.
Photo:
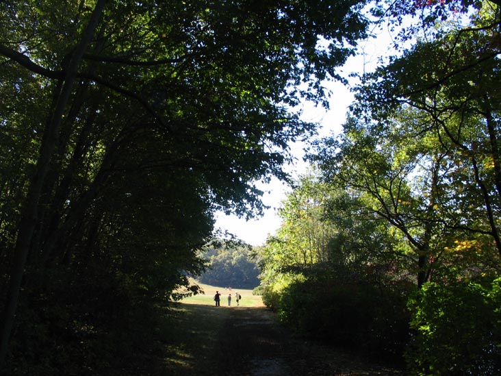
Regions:
<instances>
[{"instance_id":1,"label":"shaded dirt path leading toward the sunlit field","mask_svg":"<svg viewBox=\"0 0 501 376\"><path fill-rule=\"evenodd\" d=\"M232 310L218 346L225 375L402 375L294 338L262 307Z\"/></svg>"}]
</instances>

